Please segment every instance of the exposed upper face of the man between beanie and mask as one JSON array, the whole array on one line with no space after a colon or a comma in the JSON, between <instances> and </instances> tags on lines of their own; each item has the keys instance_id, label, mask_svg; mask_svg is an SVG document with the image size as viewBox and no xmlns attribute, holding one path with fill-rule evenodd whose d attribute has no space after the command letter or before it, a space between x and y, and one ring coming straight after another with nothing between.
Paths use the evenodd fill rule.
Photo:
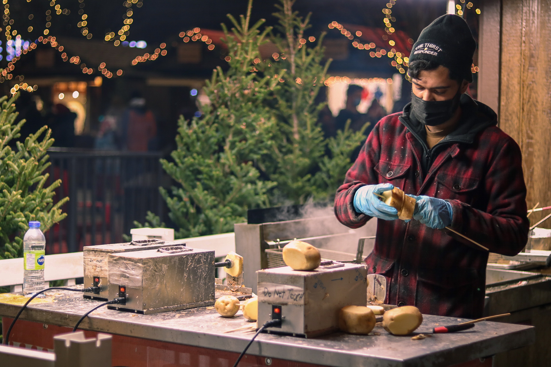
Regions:
<instances>
[{"instance_id":1,"label":"exposed upper face of the man between beanie and mask","mask_svg":"<svg viewBox=\"0 0 551 367\"><path fill-rule=\"evenodd\" d=\"M450 79L450 70L442 65L434 70L422 70L419 79L412 79L413 94L424 101L451 100L460 89L460 94L467 90L468 82L458 84Z\"/></svg>"}]
</instances>

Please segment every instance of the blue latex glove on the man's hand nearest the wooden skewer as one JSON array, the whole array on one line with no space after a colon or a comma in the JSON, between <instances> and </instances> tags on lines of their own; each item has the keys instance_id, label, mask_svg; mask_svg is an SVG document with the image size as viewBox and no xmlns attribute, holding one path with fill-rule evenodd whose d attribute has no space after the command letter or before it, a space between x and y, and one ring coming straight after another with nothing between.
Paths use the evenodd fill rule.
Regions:
<instances>
[{"instance_id":1,"label":"blue latex glove on the man's hand nearest the wooden skewer","mask_svg":"<svg viewBox=\"0 0 551 367\"><path fill-rule=\"evenodd\" d=\"M425 224L430 228L442 229L451 224L451 204L446 200L433 198L431 196L409 195L415 199L415 212L413 219Z\"/></svg>"}]
</instances>

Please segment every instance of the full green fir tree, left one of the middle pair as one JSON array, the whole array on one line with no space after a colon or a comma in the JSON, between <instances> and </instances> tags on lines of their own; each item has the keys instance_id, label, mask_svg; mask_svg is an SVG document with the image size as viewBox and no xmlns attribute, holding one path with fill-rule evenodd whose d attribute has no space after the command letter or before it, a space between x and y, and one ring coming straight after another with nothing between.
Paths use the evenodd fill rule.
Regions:
<instances>
[{"instance_id":1,"label":"full green fir tree, left one of the middle pair","mask_svg":"<svg viewBox=\"0 0 551 367\"><path fill-rule=\"evenodd\" d=\"M269 206L268 191L275 185L260 179L255 162L269 155L276 119L264 101L279 81L262 76L258 48L271 30L259 30L264 20L250 25L252 0L246 17L229 15L234 28L223 25L229 70L218 67L203 88L210 103L203 116L179 120L177 149L172 160L161 161L180 184L171 193L161 188L171 220L180 228L176 237L233 231L246 221L248 209Z\"/></svg>"}]
</instances>

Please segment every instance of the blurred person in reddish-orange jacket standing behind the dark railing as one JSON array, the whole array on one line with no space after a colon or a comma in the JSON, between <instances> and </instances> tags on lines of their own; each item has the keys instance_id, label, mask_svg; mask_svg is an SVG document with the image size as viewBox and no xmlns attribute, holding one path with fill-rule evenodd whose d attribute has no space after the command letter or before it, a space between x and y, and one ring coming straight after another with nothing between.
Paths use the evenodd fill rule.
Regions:
<instances>
[{"instance_id":1,"label":"blurred person in reddish-orange jacket standing behind the dark railing","mask_svg":"<svg viewBox=\"0 0 551 367\"><path fill-rule=\"evenodd\" d=\"M155 150L157 124L153 112L145 107L145 98L134 92L128 105L121 119L122 149L135 152Z\"/></svg>"}]
</instances>

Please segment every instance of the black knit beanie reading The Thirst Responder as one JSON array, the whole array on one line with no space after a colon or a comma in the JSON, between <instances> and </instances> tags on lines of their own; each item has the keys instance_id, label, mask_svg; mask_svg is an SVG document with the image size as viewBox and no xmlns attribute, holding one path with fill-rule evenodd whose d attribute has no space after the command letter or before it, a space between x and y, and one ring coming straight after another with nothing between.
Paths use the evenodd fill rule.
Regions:
<instances>
[{"instance_id":1,"label":"black knit beanie reading The Thirst Responder","mask_svg":"<svg viewBox=\"0 0 551 367\"><path fill-rule=\"evenodd\" d=\"M433 61L473 81L471 65L477 43L467 22L455 14L446 14L427 26L414 43L409 63L414 60Z\"/></svg>"}]
</instances>

